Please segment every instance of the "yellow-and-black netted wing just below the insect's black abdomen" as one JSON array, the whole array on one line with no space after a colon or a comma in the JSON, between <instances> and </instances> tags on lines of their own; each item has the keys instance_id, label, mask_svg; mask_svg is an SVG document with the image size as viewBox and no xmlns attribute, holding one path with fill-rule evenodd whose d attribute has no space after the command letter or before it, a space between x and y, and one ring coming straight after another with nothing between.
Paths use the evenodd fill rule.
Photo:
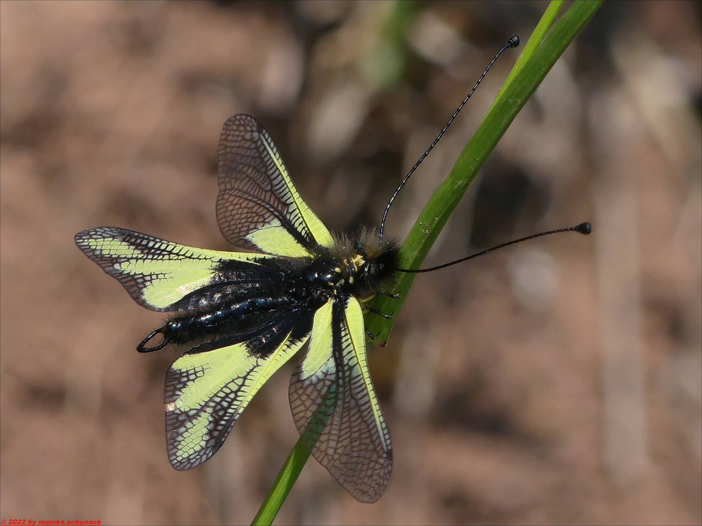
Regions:
<instances>
[{"instance_id":1,"label":"yellow-and-black netted wing just below the insect's black abdomen","mask_svg":"<svg viewBox=\"0 0 702 526\"><path fill-rule=\"evenodd\" d=\"M190 469L215 454L246 405L307 335L293 338L288 331L266 356L241 342L185 353L173 362L164 395L166 447L173 467Z\"/></svg>"}]
</instances>

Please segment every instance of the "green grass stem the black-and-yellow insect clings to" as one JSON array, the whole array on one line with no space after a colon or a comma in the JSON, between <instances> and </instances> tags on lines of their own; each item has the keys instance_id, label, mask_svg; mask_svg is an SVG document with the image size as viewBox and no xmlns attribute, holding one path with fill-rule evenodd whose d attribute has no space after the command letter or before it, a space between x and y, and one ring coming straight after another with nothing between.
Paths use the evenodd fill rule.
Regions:
<instances>
[{"instance_id":1,"label":"green grass stem the black-and-yellow insect clings to","mask_svg":"<svg viewBox=\"0 0 702 526\"><path fill-rule=\"evenodd\" d=\"M602 0L578 0L553 24L562 4L560 0L549 4L484 121L465 145L451 173L439 185L402 243L401 264L404 268L420 267L439 232L498 140L556 60L600 8ZM385 342L388 339L392 324L395 323L397 313L415 276L399 274L395 288L395 292L401 296L399 299L378 297L373 300L373 309L393 313L390 320L380 316L366 318L367 328L377 335L376 341ZM272 523L309 456L302 440L298 440L252 524Z\"/></svg>"}]
</instances>

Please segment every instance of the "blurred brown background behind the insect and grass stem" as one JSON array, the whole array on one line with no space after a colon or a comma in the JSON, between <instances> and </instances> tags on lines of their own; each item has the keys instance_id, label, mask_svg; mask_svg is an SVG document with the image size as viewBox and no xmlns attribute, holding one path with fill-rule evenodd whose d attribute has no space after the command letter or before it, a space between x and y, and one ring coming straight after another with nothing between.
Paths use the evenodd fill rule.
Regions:
<instances>
[{"instance_id":1,"label":"blurred brown background behind the insect and grass stem","mask_svg":"<svg viewBox=\"0 0 702 526\"><path fill-rule=\"evenodd\" d=\"M232 114L270 131L333 229L383 206L522 2L0 3L0 518L248 523L296 441L289 363L216 457L165 452L161 321L73 243L114 225L230 248ZM277 524L699 524L701 4L605 4L492 154L371 373L395 468L359 504L310 460ZM390 212L403 238L482 120L505 53Z\"/></svg>"}]
</instances>

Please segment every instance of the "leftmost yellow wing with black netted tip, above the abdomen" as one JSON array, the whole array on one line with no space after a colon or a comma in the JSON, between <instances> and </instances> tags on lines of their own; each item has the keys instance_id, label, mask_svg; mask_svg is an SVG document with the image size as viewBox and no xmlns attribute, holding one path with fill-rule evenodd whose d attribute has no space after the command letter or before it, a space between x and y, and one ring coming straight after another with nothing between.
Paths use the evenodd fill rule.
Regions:
<instances>
[{"instance_id":1,"label":"leftmost yellow wing with black netted tip, above the abdomen","mask_svg":"<svg viewBox=\"0 0 702 526\"><path fill-rule=\"evenodd\" d=\"M173 304L211 283L220 262L247 262L256 269L256 259L270 257L188 247L114 227L84 230L75 240L135 302L154 311L184 308Z\"/></svg>"}]
</instances>

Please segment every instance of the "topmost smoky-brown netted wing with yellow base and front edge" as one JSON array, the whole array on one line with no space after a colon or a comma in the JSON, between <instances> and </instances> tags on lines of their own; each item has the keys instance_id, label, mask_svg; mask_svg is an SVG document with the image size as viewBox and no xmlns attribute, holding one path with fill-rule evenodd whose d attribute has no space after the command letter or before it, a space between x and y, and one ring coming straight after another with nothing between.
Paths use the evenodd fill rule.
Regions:
<instances>
[{"instance_id":1,"label":"topmost smoky-brown netted wing with yellow base and front edge","mask_svg":"<svg viewBox=\"0 0 702 526\"><path fill-rule=\"evenodd\" d=\"M331 248L329 230L300 197L270 135L250 115L224 123L217 220L234 245L286 257Z\"/></svg>"}]
</instances>

